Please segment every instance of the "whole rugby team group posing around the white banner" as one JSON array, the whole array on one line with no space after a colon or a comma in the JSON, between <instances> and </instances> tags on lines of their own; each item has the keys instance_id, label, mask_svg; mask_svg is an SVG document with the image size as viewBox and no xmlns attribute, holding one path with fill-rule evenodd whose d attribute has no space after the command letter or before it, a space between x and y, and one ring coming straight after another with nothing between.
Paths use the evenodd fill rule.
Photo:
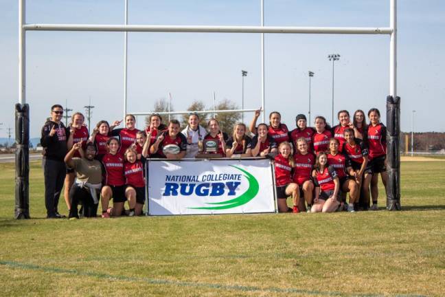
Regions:
<instances>
[{"instance_id":1,"label":"whole rugby team group posing around the white banner","mask_svg":"<svg viewBox=\"0 0 445 297\"><path fill-rule=\"evenodd\" d=\"M178 120L163 123L161 115L152 113L143 129L128 114L124 123L101 120L88 131L79 112L65 126L64 109L54 104L41 135L47 218L65 218L58 212L60 195L69 219L97 217L99 204L102 218L143 214L148 158L267 157L275 164L279 212L378 209L379 176L385 189L388 178L386 128L378 109L352 116L339 111L332 127L323 116L312 127L298 114L293 130L278 111L270 113L269 123L257 124L261 112L255 111L249 126L238 122L227 133L217 118L201 126L193 112L185 127Z\"/></svg>"}]
</instances>

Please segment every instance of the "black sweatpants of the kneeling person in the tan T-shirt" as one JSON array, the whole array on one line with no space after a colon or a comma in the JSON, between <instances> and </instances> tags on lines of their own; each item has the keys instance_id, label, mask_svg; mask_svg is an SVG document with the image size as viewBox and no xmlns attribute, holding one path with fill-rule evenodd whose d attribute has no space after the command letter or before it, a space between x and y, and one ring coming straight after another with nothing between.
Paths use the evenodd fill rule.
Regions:
<instances>
[{"instance_id":1,"label":"black sweatpants of the kneeling person in the tan T-shirt","mask_svg":"<svg viewBox=\"0 0 445 297\"><path fill-rule=\"evenodd\" d=\"M100 190L96 190L98 197L100 197ZM93 197L89 189L82 188L78 184L73 184L69 190L69 199L71 200L71 210L69 210L69 217L78 217L78 204L82 203L84 217L95 217L98 213L98 204L94 203Z\"/></svg>"}]
</instances>

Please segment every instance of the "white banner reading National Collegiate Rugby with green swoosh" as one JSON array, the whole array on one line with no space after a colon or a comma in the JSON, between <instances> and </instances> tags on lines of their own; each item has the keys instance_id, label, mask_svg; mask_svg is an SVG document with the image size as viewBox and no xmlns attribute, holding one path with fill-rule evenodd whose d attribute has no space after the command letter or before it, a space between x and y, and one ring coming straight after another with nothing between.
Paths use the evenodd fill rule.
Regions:
<instances>
[{"instance_id":1,"label":"white banner reading National Collegiate Rugby with green swoosh","mask_svg":"<svg viewBox=\"0 0 445 297\"><path fill-rule=\"evenodd\" d=\"M269 159L147 160L148 214L275 212Z\"/></svg>"}]
</instances>

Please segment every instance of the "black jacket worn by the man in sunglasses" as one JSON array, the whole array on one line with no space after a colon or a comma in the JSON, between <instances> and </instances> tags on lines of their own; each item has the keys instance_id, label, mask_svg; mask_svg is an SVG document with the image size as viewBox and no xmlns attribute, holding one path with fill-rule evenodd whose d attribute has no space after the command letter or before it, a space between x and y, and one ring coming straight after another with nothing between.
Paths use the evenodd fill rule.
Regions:
<instances>
[{"instance_id":1,"label":"black jacket worn by the man in sunglasses","mask_svg":"<svg viewBox=\"0 0 445 297\"><path fill-rule=\"evenodd\" d=\"M56 126L56 133L49 136L52 126ZM54 159L62 161L67 155L67 142L69 137L69 129L60 122L57 124L51 120L45 122L42 128L41 145L43 146L43 157L46 159Z\"/></svg>"}]
</instances>

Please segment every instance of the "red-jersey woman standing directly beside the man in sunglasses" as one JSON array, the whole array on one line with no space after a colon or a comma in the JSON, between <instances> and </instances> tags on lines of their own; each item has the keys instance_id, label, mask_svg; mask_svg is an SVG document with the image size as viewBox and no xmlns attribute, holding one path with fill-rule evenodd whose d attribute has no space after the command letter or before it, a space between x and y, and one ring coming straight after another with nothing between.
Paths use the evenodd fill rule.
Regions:
<instances>
[{"instance_id":1,"label":"red-jersey woman standing directly beside the man in sunglasses","mask_svg":"<svg viewBox=\"0 0 445 297\"><path fill-rule=\"evenodd\" d=\"M82 142L82 150L85 151L87 148L87 140L89 137L88 129L84 126L84 115L80 112L76 112L71 116L71 124L69 125L69 138L68 138L68 150L71 149L73 144ZM83 157L80 155L79 151L76 150L73 157ZM69 190L73 186L74 178L76 173L74 169L67 166L67 175L65 176L65 187L63 189L63 195L65 196L65 203L67 203L68 210L71 209L71 201L69 201Z\"/></svg>"}]
</instances>

